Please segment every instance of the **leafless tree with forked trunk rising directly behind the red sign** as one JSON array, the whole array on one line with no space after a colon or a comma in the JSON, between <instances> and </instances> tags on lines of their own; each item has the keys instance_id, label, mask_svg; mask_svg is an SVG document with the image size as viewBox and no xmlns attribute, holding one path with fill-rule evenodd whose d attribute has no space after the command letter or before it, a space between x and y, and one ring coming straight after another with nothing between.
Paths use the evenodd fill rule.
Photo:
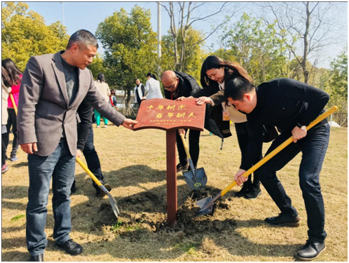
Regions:
<instances>
[{"instance_id":1,"label":"leafless tree with forked trunk rising directly behind the red sign","mask_svg":"<svg viewBox=\"0 0 349 263\"><path fill-rule=\"evenodd\" d=\"M175 11L175 6L177 4L178 13ZM170 17L170 32L172 35L173 41L173 50L174 50L174 62L175 70L179 72L184 71L186 65L186 60L188 58L188 50L194 50L197 48L197 45L205 41L210 37L214 32L217 31L222 25L224 25L229 18L233 17L235 10L230 8L228 2L219 4L217 8L217 3L214 3L214 9L216 11L212 12L212 8L207 6L208 3L202 2L168 2L167 4L161 4L167 14ZM201 13L202 12L202 13ZM193 27L195 22L203 22L208 19L216 18L216 21L219 20L217 15L223 16L228 13L228 16L219 23L219 25L213 26L212 30L206 34L202 39L194 41L192 43L188 42L187 34L189 30ZM177 19L176 19L177 18ZM178 23L176 23L178 20ZM180 41L179 41L180 39Z\"/></svg>"}]
</instances>

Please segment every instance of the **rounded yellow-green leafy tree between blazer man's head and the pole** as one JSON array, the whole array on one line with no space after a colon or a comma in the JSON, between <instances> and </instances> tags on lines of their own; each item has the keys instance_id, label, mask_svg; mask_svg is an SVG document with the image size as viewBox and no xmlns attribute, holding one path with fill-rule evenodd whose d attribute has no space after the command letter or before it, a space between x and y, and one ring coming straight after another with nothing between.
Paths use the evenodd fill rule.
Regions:
<instances>
[{"instance_id":1,"label":"rounded yellow-green leafy tree between blazer man's head and the pole","mask_svg":"<svg viewBox=\"0 0 349 263\"><path fill-rule=\"evenodd\" d=\"M135 79L144 81L147 72L156 72L157 40L150 19L150 10L136 5L130 13L121 8L97 27L97 39L105 50L106 79L125 90L127 107Z\"/></svg>"}]
</instances>

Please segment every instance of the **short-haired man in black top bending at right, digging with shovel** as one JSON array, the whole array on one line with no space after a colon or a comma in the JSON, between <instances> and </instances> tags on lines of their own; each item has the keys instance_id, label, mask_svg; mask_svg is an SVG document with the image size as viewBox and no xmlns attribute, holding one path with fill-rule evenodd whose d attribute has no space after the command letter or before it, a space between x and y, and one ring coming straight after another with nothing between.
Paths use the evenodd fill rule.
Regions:
<instances>
[{"instance_id":1,"label":"short-haired man in black top bending at right, digging with shovel","mask_svg":"<svg viewBox=\"0 0 349 263\"><path fill-rule=\"evenodd\" d=\"M299 215L296 208L292 206L291 198L287 196L278 180L276 171L282 169L299 152L302 152L299 184L306 204L308 241L295 256L306 261L315 259L324 250L324 239L327 236L324 231L324 201L319 177L329 143L330 129L326 119L308 132L306 126L324 111L329 95L318 88L293 79L275 79L254 87L242 78L229 81L224 95L236 109L247 114L247 121L253 129L259 130L263 124L271 123L281 132L266 154L289 137L293 137L293 144L256 170L261 183L281 211L277 217L266 218L269 224L299 226ZM262 141L263 138L259 136L250 142L251 156L259 152ZM245 173L245 170L239 170L235 175L238 185L247 180L241 176L242 173Z\"/></svg>"}]
</instances>

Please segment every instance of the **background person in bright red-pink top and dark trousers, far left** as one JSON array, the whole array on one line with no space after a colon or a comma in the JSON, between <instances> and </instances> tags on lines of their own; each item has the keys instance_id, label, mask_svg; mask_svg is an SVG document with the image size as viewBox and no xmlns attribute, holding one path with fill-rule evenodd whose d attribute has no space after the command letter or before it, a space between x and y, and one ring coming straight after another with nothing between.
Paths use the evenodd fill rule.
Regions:
<instances>
[{"instance_id":1,"label":"background person in bright red-pink top and dark trousers, far left","mask_svg":"<svg viewBox=\"0 0 349 263\"><path fill-rule=\"evenodd\" d=\"M15 63L9 58L7 58L6 60L2 60L1 65L8 71L9 81L11 82L11 94L13 95L15 106L18 107L18 97L20 95L20 81L22 80L22 72L20 72L20 69L18 69ZM16 156L18 151L17 116L16 116L15 109L10 96L8 96L7 111L8 111L8 119L6 123L7 132L4 135L5 151L7 151L8 142L10 140L10 131L12 127L13 142L12 142L10 160L18 161L18 158Z\"/></svg>"}]
</instances>

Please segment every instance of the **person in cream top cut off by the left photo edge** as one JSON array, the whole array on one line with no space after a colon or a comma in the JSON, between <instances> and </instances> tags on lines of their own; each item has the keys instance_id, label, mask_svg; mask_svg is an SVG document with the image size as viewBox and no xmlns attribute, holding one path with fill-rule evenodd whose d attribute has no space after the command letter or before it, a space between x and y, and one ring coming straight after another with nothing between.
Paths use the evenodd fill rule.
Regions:
<instances>
[{"instance_id":1,"label":"person in cream top cut off by the left photo edge","mask_svg":"<svg viewBox=\"0 0 349 263\"><path fill-rule=\"evenodd\" d=\"M2 121L1 121L1 174L8 171L8 165L6 164L6 147L4 143L4 134L7 132L6 123L8 119L7 104L8 93L11 92L10 77L8 71L4 67L1 67L1 107L2 107Z\"/></svg>"}]
</instances>

